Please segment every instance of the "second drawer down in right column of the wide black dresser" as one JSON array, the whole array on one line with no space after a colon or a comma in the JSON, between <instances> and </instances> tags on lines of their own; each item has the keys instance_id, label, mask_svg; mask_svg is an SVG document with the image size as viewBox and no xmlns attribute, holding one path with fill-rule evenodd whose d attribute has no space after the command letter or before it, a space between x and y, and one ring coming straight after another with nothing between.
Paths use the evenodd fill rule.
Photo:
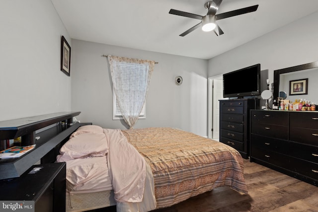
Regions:
<instances>
[{"instance_id":1,"label":"second drawer down in right column of the wide black dresser","mask_svg":"<svg viewBox=\"0 0 318 212\"><path fill-rule=\"evenodd\" d=\"M318 146L318 130L291 127L290 140Z\"/></svg>"}]
</instances>

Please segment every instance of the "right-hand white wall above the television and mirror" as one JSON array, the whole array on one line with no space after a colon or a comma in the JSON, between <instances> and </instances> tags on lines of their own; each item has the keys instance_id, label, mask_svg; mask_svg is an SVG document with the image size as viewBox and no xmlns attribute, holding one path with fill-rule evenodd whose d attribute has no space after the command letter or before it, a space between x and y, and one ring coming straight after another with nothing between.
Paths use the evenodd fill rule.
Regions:
<instances>
[{"instance_id":1,"label":"right-hand white wall above the television and mirror","mask_svg":"<svg viewBox=\"0 0 318 212\"><path fill-rule=\"evenodd\" d=\"M210 59L209 77L259 63L266 73L261 75L262 84L266 86L266 78L273 83L274 70L318 61L317 20L318 12L315 12ZM261 90L264 89L263 86Z\"/></svg>"}]
</instances>

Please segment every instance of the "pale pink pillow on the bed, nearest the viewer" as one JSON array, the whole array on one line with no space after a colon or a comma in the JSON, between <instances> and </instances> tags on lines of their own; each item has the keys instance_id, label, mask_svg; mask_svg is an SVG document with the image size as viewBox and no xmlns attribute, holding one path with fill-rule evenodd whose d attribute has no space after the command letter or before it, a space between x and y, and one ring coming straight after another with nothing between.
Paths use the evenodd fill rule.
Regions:
<instances>
[{"instance_id":1,"label":"pale pink pillow on the bed, nearest the viewer","mask_svg":"<svg viewBox=\"0 0 318 212\"><path fill-rule=\"evenodd\" d=\"M81 157L106 155L108 142L104 133L82 133L70 138L60 149L58 162L65 162Z\"/></svg>"}]
</instances>

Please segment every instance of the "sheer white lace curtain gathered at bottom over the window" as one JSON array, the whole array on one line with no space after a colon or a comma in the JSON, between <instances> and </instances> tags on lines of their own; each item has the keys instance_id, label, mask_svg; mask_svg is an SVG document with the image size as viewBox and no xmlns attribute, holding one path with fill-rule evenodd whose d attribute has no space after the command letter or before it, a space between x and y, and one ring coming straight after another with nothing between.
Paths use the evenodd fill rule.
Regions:
<instances>
[{"instance_id":1,"label":"sheer white lace curtain gathered at bottom over the window","mask_svg":"<svg viewBox=\"0 0 318 212\"><path fill-rule=\"evenodd\" d=\"M146 101L155 62L111 55L107 58L121 114L133 129Z\"/></svg>"}]
</instances>

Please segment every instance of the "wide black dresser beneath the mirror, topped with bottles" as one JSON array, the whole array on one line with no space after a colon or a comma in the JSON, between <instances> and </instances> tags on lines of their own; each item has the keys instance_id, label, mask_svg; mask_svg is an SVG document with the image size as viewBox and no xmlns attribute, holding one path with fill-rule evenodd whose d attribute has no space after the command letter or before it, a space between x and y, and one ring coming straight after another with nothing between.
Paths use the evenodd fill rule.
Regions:
<instances>
[{"instance_id":1,"label":"wide black dresser beneath the mirror, topped with bottles","mask_svg":"<svg viewBox=\"0 0 318 212\"><path fill-rule=\"evenodd\" d=\"M318 186L318 112L250 115L250 161Z\"/></svg>"}]
</instances>

